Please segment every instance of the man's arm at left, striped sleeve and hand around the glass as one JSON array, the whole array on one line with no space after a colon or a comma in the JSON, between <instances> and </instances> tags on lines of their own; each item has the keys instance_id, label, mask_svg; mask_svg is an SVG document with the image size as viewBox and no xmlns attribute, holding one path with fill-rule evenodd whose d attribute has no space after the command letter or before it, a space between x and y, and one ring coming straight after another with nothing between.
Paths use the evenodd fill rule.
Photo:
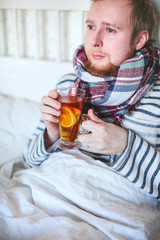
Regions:
<instances>
[{"instance_id":1,"label":"man's arm at left, striped sleeve and hand around the glass","mask_svg":"<svg viewBox=\"0 0 160 240\"><path fill-rule=\"evenodd\" d=\"M40 111L42 121L37 127L24 152L24 162L29 166L39 166L50 155L50 148L59 138L59 115L61 104L55 90L42 97ZM54 146L52 147L54 150Z\"/></svg>"}]
</instances>

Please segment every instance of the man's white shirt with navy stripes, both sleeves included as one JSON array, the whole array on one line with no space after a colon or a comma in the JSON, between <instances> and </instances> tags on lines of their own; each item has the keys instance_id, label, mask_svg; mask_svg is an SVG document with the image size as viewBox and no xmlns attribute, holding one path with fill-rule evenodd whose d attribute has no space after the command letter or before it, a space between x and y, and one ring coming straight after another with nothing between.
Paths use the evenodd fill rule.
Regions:
<instances>
[{"instance_id":1,"label":"man's white shirt with navy stripes, both sleeves included","mask_svg":"<svg viewBox=\"0 0 160 240\"><path fill-rule=\"evenodd\" d=\"M72 79L72 80L70 80ZM69 80L69 82L68 82ZM73 84L74 74L66 75L57 87ZM119 174L160 199L160 78L140 100L132 116L125 116L123 127L127 129L127 145L121 155L107 156L86 152L100 159ZM44 144L45 124L33 133L24 152L29 167L39 166L51 154ZM52 152L56 151L56 144ZM53 153L52 153L53 154Z\"/></svg>"}]
</instances>

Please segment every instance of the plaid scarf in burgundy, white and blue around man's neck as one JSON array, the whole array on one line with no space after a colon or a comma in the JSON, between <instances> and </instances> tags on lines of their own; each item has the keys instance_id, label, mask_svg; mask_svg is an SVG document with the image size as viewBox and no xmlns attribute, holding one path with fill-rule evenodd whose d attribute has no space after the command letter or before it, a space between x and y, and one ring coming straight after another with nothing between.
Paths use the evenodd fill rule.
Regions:
<instances>
[{"instance_id":1,"label":"plaid scarf in burgundy, white and blue around man's neck","mask_svg":"<svg viewBox=\"0 0 160 240\"><path fill-rule=\"evenodd\" d=\"M148 43L131 59L124 61L116 76L95 77L85 71L84 46L75 52L75 84L86 90L85 106L104 121L122 125L124 116L133 114L140 99L160 75L160 49ZM87 110L86 109L86 110Z\"/></svg>"}]
</instances>

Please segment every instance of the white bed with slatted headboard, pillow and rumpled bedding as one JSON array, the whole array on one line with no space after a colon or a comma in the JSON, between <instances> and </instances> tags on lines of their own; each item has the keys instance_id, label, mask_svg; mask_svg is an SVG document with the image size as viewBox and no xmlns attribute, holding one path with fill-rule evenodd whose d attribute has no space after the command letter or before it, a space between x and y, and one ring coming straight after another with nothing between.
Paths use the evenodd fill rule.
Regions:
<instances>
[{"instance_id":1,"label":"white bed with slatted headboard, pillow and rumpled bedding","mask_svg":"<svg viewBox=\"0 0 160 240\"><path fill-rule=\"evenodd\" d=\"M103 162L73 150L50 155L40 167L23 164L41 97L73 72L89 4L0 1L1 240L160 239L160 203ZM160 44L159 0L153 4Z\"/></svg>"}]
</instances>

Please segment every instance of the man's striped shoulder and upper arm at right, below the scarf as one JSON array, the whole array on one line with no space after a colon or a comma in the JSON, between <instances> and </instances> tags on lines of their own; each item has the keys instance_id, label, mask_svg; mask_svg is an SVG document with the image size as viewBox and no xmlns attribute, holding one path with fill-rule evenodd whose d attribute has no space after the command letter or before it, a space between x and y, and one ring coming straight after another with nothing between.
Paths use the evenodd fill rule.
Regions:
<instances>
[{"instance_id":1,"label":"man's striped shoulder and upper arm at right, below the scarf","mask_svg":"<svg viewBox=\"0 0 160 240\"><path fill-rule=\"evenodd\" d=\"M136 111L125 116L123 127L130 129L139 136L143 137L153 146L159 147L158 136L160 136L160 79L157 79L154 85L140 100Z\"/></svg>"}]
</instances>

